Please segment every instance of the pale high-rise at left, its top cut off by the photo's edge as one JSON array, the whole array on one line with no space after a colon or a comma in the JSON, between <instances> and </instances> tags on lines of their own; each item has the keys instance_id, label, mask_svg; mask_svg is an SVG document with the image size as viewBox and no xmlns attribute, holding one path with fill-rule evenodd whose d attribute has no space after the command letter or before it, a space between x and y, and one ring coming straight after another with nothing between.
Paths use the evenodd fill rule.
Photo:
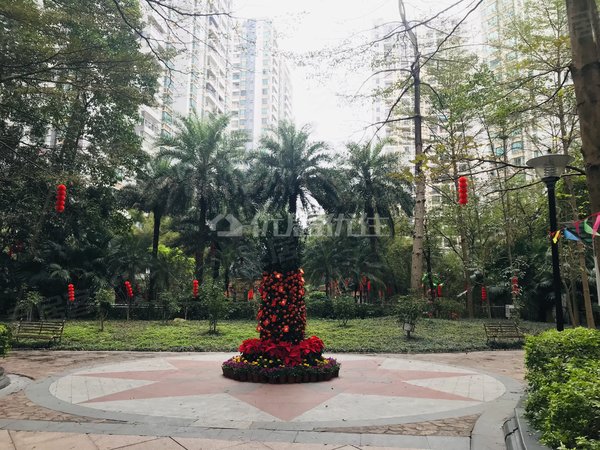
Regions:
<instances>
[{"instance_id":1,"label":"pale high-rise at left, its top cut off by the photo's edge","mask_svg":"<svg viewBox=\"0 0 600 450\"><path fill-rule=\"evenodd\" d=\"M232 20L223 14L231 10L231 0L178 1L178 10L195 13L189 15L149 5L142 2L143 33L148 39L142 41L142 48L173 53L161 61L155 105L140 111L137 131L144 150L152 154L156 138L173 133L177 117L195 113L202 118L229 111Z\"/></svg>"}]
</instances>

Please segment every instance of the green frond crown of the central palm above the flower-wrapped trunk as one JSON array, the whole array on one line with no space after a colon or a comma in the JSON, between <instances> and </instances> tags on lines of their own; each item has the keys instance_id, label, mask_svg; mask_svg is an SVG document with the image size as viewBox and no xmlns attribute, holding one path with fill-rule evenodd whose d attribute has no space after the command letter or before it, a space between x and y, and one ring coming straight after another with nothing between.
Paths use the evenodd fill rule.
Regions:
<instances>
[{"instance_id":1,"label":"green frond crown of the central palm above the flower-wrapped trunk","mask_svg":"<svg viewBox=\"0 0 600 450\"><path fill-rule=\"evenodd\" d=\"M337 200L332 182L332 159L327 145L310 141L307 126L281 122L275 136L264 136L253 154L256 177L254 192L259 199L271 201L275 209L296 215L298 200L304 208L315 200L325 209ZM328 167L328 165L330 167Z\"/></svg>"}]
</instances>

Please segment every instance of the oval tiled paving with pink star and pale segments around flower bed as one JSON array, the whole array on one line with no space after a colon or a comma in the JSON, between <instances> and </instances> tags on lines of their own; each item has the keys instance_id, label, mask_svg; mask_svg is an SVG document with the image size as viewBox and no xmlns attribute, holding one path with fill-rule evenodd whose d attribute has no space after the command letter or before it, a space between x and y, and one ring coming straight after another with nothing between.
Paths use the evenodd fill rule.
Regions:
<instances>
[{"instance_id":1,"label":"oval tiled paving with pink star and pale segments around flower bed","mask_svg":"<svg viewBox=\"0 0 600 450\"><path fill-rule=\"evenodd\" d=\"M221 375L231 355L134 360L59 378L54 397L94 412L191 419L195 426L377 421L452 414L500 397L504 385L473 370L402 358L338 355L329 382L271 385Z\"/></svg>"}]
</instances>

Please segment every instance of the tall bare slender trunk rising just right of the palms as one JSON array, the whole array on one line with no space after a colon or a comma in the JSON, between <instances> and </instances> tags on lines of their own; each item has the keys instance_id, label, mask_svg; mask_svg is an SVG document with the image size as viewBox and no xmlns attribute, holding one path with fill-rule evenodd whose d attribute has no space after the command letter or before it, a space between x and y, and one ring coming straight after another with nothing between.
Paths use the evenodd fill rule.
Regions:
<instances>
[{"instance_id":1,"label":"tall bare slender trunk rising just right of the palms","mask_svg":"<svg viewBox=\"0 0 600 450\"><path fill-rule=\"evenodd\" d=\"M423 136L421 130L421 53L419 52L417 36L406 19L403 0L398 0L398 7L400 9L402 23L410 38L415 58L411 66L411 75L414 86L415 210L413 215L414 230L410 288L416 293L419 291L421 278L423 278L423 239L425 236L425 174L423 173Z\"/></svg>"}]
</instances>

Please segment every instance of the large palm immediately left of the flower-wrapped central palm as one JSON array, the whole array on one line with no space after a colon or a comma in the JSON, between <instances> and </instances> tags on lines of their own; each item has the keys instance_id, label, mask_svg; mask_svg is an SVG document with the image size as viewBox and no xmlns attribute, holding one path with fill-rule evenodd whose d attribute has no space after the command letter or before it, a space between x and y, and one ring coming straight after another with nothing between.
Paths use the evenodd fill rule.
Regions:
<instances>
[{"instance_id":1,"label":"large palm immediately left of the flower-wrapped central palm","mask_svg":"<svg viewBox=\"0 0 600 450\"><path fill-rule=\"evenodd\" d=\"M187 197L194 219L193 241L196 276L204 273L204 250L210 239L208 220L229 207L240 195L240 172L243 140L240 135L226 134L227 116L210 116L207 120L192 115L180 120L174 136L163 136L157 144L161 157L175 161L174 170Z\"/></svg>"}]
</instances>

